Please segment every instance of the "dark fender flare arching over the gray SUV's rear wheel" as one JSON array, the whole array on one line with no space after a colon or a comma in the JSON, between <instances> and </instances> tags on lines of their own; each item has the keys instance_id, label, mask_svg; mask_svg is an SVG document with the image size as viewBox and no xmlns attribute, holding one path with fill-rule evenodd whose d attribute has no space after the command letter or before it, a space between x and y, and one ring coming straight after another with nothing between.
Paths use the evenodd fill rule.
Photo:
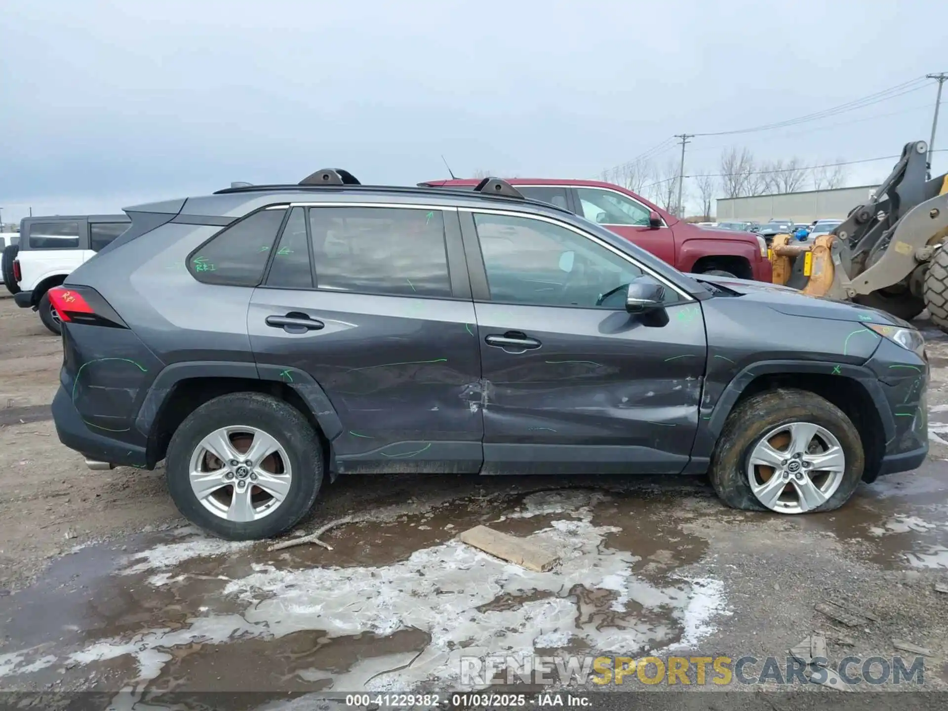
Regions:
<instances>
[{"instance_id":1,"label":"dark fender flare arching over the gray SUV's rear wheel","mask_svg":"<svg viewBox=\"0 0 948 711\"><path fill-rule=\"evenodd\" d=\"M312 411L326 439L332 442L342 433L342 422L329 397L313 377L296 368L256 363L234 363L217 360L197 360L172 363L155 377L138 408L135 427L150 437L155 420L168 395L177 383L194 377L243 377L250 380L273 380L292 388Z\"/></svg>"}]
</instances>

